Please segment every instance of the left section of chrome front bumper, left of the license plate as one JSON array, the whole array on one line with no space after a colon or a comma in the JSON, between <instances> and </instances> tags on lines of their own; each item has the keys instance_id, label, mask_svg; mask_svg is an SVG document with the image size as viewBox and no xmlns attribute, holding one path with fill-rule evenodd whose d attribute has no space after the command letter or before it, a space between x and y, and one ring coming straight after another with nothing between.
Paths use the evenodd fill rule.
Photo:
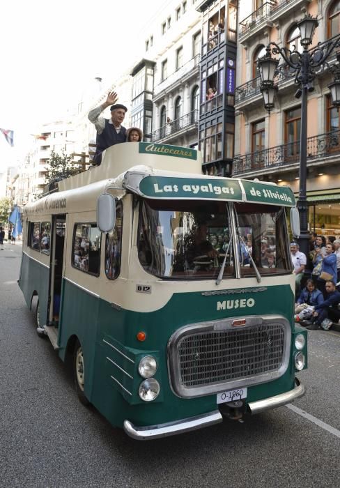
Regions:
<instances>
[{"instance_id":1,"label":"left section of chrome front bumper, left of the license plate","mask_svg":"<svg viewBox=\"0 0 340 488\"><path fill-rule=\"evenodd\" d=\"M203 427L209 427L222 421L223 417L221 413L215 410L213 412L203 413L203 415L196 415L196 417L146 427L138 427L133 425L130 420L124 420L124 430L132 439L146 441L147 439L159 439L160 437L173 436L175 434L182 434L183 432L190 432L191 430L202 429Z\"/></svg>"}]
</instances>

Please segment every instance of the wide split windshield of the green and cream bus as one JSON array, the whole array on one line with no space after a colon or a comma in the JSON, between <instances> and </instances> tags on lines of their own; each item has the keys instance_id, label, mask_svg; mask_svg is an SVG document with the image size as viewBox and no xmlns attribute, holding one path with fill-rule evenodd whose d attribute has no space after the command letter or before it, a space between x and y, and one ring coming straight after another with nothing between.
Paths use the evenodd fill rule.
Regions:
<instances>
[{"instance_id":1,"label":"wide split windshield of the green and cream bus","mask_svg":"<svg viewBox=\"0 0 340 488\"><path fill-rule=\"evenodd\" d=\"M233 211L233 206L230 206ZM148 273L175 280L235 277L235 249L242 275L254 275L249 253L261 275L291 272L285 215L279 207L238 204L238 238L225 201L141 200L138 256ZM233 238L234 235L234 238ZM261 241L275 254L275 266L262 256ZM280 245L276 248L276 243ZM261 258L263 257L262 261Z\"/></svg>"}]
</instances>

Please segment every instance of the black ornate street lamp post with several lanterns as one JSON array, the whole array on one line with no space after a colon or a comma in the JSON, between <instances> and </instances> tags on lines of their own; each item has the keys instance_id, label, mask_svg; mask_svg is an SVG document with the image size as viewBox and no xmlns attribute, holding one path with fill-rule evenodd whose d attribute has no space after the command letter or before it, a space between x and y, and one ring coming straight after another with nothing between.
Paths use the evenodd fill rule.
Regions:
<instances>
[{"instance_id":1,"label":"black ornate street lamp post with several lanterns","mask_svg":"<svg viewBox=\"0 0 340 488\"><path fill-rule=\"evenodd\" d=\"M330 39L327 43L319 43L316 47L309 49L318 26L318 20L311 15L305 15L297 27L300 29L300 43L302 52L297 47L291 51L286 47L279 47L276 43L269 43L266 47L266 54L258 59L258 70L261 75L261 93L263 95L265 109L270 111L274 107L274 98L277 93L277 84L274 79L282 73L284 77L295 77L294 82L298 87L295 98L301 97L301 122L300 122L300 186L297 208L300 215L300 250L308 256L309 254L309 233L308 233L308 206L307 206L307 96L308 92L314 91L314 78L316 73L327 68L334 73L334 82L328 85L332 96L334 107L340 107L340 56L338 63L329 66L327 59L330 58L336 47L340 47L340 35ZM279 66L279 60L272 57L280 54L284 64ZM289 68L287 70L287 67Z\"/></svg>"}]
</instances>

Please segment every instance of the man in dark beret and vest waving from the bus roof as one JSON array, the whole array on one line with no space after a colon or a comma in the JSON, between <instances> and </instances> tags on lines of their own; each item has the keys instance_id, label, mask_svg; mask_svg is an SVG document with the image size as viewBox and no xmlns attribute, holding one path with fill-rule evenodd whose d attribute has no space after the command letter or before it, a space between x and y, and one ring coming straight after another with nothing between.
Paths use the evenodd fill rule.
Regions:
<instances>
[{"instance_id":1,"label":"man in dark beret and vest waving from the bus roof","mask_svg":"<svg viewBox=\"0 0 340 488\"><path fill-rule=\"evenodd\" d=\"M126 141L126 129L123 127L127 108L121 103L116 103L118 100L117 93L111 91L107 95L106 101L99 107L88 112L88 120L91 121L97 130L97 146L95 149L95 156L93 162L95 165L100 165L102 162L102 151L105 151L114 144L120 144ZM111 105L111 119L105 119L100 114Z\"/></svg>"}]
</instances>

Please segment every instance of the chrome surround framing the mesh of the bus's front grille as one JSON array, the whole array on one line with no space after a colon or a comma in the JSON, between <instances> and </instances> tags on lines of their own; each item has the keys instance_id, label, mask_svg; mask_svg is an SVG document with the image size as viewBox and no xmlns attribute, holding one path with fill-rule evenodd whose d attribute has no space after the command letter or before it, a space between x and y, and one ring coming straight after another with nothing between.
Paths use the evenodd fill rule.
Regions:
<instances>
[{"instance_id":1,"label":"chrome surround framing the mesh of the bus's front grille","mask_svg":"<svg viewBox=\"0 0 340 488\"><path fill-rule=\"evenodd\" d=\"M180 381L180 364L178 360L178 342L185 335L199 332L209 332L210 330L233 330L232 323L234 320L246 319L247 323L242 328L252 328L252 326L267 322L278 322L285 330L284 353L282 355L282 364L279 369L270 372L256 374L255 376L247 376L246 378L234 379L232 381L224 381L219 383L211 383L206 386L194 386L187 388L183 386ZM241 328L241 327L240 327ZM268 383L281 377L287 370L291 351L291 326L287 319L280 315L245 315L241 317L229 317L216 321L192 323L189 326L182 327L176 330L171 335L167 345L167 363L169 384L174 395L180 398L194 398L212 395L224 390L231 390L233 388L242 388L242 386L254 386L261 383Z\"/></svg>"}]
</instances>

